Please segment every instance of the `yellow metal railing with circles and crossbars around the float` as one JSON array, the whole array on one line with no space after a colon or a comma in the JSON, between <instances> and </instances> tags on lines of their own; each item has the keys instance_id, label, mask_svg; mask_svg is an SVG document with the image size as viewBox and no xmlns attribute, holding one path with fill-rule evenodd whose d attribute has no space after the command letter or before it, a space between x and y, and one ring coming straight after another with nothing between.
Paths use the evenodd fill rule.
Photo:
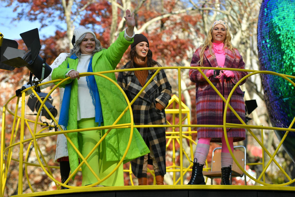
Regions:
<instances>
[{"instance_id":1,"label":"yellow metal railing with circles and crossbars around the float","mask_svg":"<svg viewBox=\"0 0 295 197\"><path fill-rule=\"evenodd\" d=\"M134 125L133 124L133 115L132 115L132 109L131 109L131 105L134 103L134 101L136 100L136 98L138 98L138 96L141 94L142 91L144 91L145 87L148 86L148 84L153 80L153 78L156 76L156 74L162 70L162 69L173 69L173 70L177 70L177 75L178 75L178 97L177 96L172 96L170 102L169 102L169 106L172 106L169 109L166 109L166 113L167 114L172 114L172 123L167 123L167 125ZM212 88L216 91L216 93L222 98L222 100L226 103L225 106L225 111L224 111L224 119L223 119L223 125L192 125L190 123L190 109L188 109L185 104L181 101L182 99L182 90L181 90L181 70L183 69L197 69L199 70L199 72L203 75L203 77L207 80L207 82L212 86ZM225 99L222 94L220 94L220 92L218 92L218 90L214 87L214 85L208 80L208 78L205 76L205 74L202 72L201 69L215 69L215 70L236 70L236 71L247 71L250 74L246 75L244 78L242 78L239 82L237 82L237 84L234 86L234 88L232 89L232 91L230 92L230 95L227 99ZM111 72L123 72L123 71L128 71L128 70L156 70L155 74L152 76L152 78L147 82L147 84L142 88L142 90L136 95L136 97L129 102L128 98L126 96L126 94L124 93L124 91L121 89L121 87L115 82L113 81L111 78L106 77L104 74L105 73L111 73ZM263 126L254 126L254 125L246 125L246 123L243 122L243 120L238 116L238 114L234 111L234 109L230 106L229 104L229 100L230 97L232 96L234 90L238 87L238 85L245 80L247 77L250 77L251 75L254 74L272 74L272 75L277 75L279 77L284 78L285 80L287 80L288 82L290 82L293 86L295 86L294 82L292 80L290 80L289 78L295 78L294 76L290 76L290 75L285 75L285 74L279 74L279 73L275 73L275 72L271 72L271 71L257 71L257 70L245 70L245 69L232 69L232 68L212 68L212 67L183 67L183 66L179 66L179 67L157 67L157 68L140 68L140 69L124 69L124 70L112 70L112 71L104 71L104 72L97 72L97 73L81 73L80 77L84 77L87 75L97 75L100 77L104 77L108 80L110 80L112 83L114 83L118 89L122 92L122 94L124 95L124 98L128 104L128 107L126 107L126 109L122 112L122 114L118 117L118 119L115 121L115 123L113 123L112 125L109 126L104 126L104 127L95 127L95 128L88 128L88 129L77 129L77 130L68 130L68 131L63 131L63 129L58 125L59 130L57 132L45 132L46 128L49 127L54 127L53 125L48 125L45 123L42 123L40 121L38 121L38 118L40 116L41 113L41 109L42 107L45 108L45 110L47 111L47 113L51 116L51 118L53 119L53 122L57 125L57 120L53 117L53 115L50 113L50 111L47 109L47 107L44 105L46 99L49 97L49 95L64 81L68 80L69 78L65 78L65 79L58 79L58 80L54 80L54 81L50 81L50 82L46 82L46 83L42 83L39 84L38 86L41 85L45 85L48 83L52 83L52 82L59 82L56 86L54 86L52 88L52 90L50 90L50 92L48 93L48 95L45 97L45 99L41 100L41 98L36 94L34 87L30 87L27 88L26 90L22 91L22 97L21 97L21 112L20 112L20 116L18 115L19 111L18 111L18 103L20 98L16 98L16 105L15 105L15 112L13 113L12 111L10 111L7 106L8 103L10 103L13 99L15 99L15 96L11 97L7 103L3 106L3 111L2 111L2 132L1 132L1 160L0 160L0 178L1 178L1 183L0 183L0 188L1 188L1 192L0 192L0 197L4 196L4 190L5 190L5 184L7 181L7 175L9 172L9 168L10 168L10 163L11 161L17 161L19 162L19 181L18 181L18 194L22 194L23 193L23 166L25 166L25 174L26 174L26 179L28 181L28 185L31 188L31 191L33 191L33 188L30 184L29 181L29 175L28 175L28 171L27 171L27 167L28 166L36 166L36 167L41 167L42 170L46 173L46 175L52 179L56 186L59 187L59 185L62 185L64 187L69 187L69 188L76 188L75 186L68 186L66 185L66 183L73 177L73 174L75 174L77 171L79 171L79 168L81 167L82 164L86 164L90 170L92 170L92 168L89 166L89 164L87 163L87 158L89 158L89 156L92 154L92 152L94 151L95 148L97 148L99 146L99 144L102 142L102 140L104 140L104 138L106 137L106 135L108 135L108 133L111 131L111 129L113 128L130 128L130 139L127 145L127 148L125 150L125 153L122 157L122 159L120 160L119 164L116 166L116 168L106 177L98 177L96 175L97 178L97 182L93 183L92 185L89 186L84 186L84 187L79 187L79 188L86 188L86 187L92 187L96 184L99 184L100 182L104 181L105 179L107 179L110 175L112 175L112 173L114 173L116 171L116 169L119 167L119 165L123 162L124 157L126 156L127 152L128 152L128 148L130 146L131 143L131 139L132 139L132 131L133 131L133 127L171 127L172 131L167 132L167 146L169 146L169 144L172 143L172 165L171 166L167 166L167 172L168 173L173 173L173 184L184 184L184 180L183 177L184 175L186 175L186 173L188 171L191 171L191 166L192 163L190 163L188 166L183 166L183 159L187 159L187 160L192 160L190 158L193 158L193 154L194 154L194 150L193 150L193 144L196 144L195 141L192 139L191 134L192 133L196 133L197 131L191 131L191 127L219 127L219 128L223 128L224 133L225 133L225 138L226 138L226 143L227 143L227 147L229 148L229 144L228 144L228 140L227 140L227 135L226 135L226 128L228 127L232 127L232 128L246 128L247 131L253 136L253 138L259 143L259 145L262 147L263 149L263 153L265 152L268 156L269 156L269 161L268 163L264 166L264 160L262 160L262 174L258 176L258 179L255 179L254 177L252 177L251 175L249 175L237 162L237 160L234 158L233 153L231 152L231 149L229 148L230 154L232 155L234 162L237 163L238 167L248 176L250 177L250 179L254 180L257 183L260 183L262 185L272 185L270 183L265 183L265 172L267 170L267 168L269 167L271 162L274 162L277 167L282 171L282 173L287 177L287 179L289 180L289 182L287 183L283 183L283 184L277 184L276 186L286 186L289 185L291 183L293 183L295 181L295 179L291 179L289 177L289 175L284 171L284 169L280 166L280 164L276 161L276 159L274 158L274 156L277 154L278 149L281 147L286 135L289 133L289 131L293 132L295 131L295 129L292 129L291 127L293 126L293 123L295 122L295 118L293 119L293 122L290 124L289 128L278 128L278 127L263 127ZM26 119L25 118L25 93L28 90L32 90L33 93L35 94L35 96L37 97L37 99L39 100L39 102L41 103L41 106L37 112L37 117L35 119L35 121L30 120L30 119ZM178 108L176 108L176 104L179 105ZM232 123L226 123L226 109L227 107L230 108L230 110L237 116L237 118L241 121L241 124L232 124ZM118 121L120 120L120 118L124 115L124 113L126 113L127 111L130 112L130 117L131 117L131 122L130 123L125 123L125 124L117 124ZM6 112L8 112L10 115L12 115L14 117L13 119L13 126L11 131L6 131ZM128 113L129 113L128 112ZM183 117L183 115L185 114L185 116ZM176 123L175 122L175 117L178 115L179 117L179 122ZM183 124L184 120L187 120L187 124ZM30 124L33 123L33 129L30 127ZM29 135L31 135L31 137L28 137L28 134L26 135L25 138L25 126L28 128L29 131ZM20 131L18 130L20 127ZM42 128L43 127L43 128ZM178 128L179 131L176 131L175 128ZM187 128L187 131L183 131L183 128ZM89 131L89 130L100 130L100 129L106 129L107 132L105 133L104 136L102 136L102 138L100 139L100 141L96 144L96 146L92 149L92 151L89 153L89 155L87 155L85 158L81 155L81 153L78 151L78 149L76 147L73 146L72 141L69 139L69 137L67 136L67 133L70 132L77 132L77 131ZM253 131L251 129L261 129L261 130L265 130L265 129L269 129L269 130L281 130L281 131L286 131L285 136L282 138L281 142L279 143L277 149L274 151L273 154L271 154L263 145L263 136L262 136L262 140L260 141L258 139L257 136L255 136L255 134L253 133ZM11 138L10 138L10 143L9 145L6 147L6 139L5 139L5 134L6 132L11 133ZM78 166L78 168L73 171L71 173L71 175L69 176L69 179L65 182L65 183L61 183L60 181L57 181L54 177L53 177L53 173L51 171L51 169L56 169L58 168L57 166L52 166L49 165L48 162L46 161L42 150L40 148L40 146L37 143L38 139L42 139L45 137L50 137L50 136L54 136L54 135L58 135L58 134L64 134L68 140L68 143L72 144L72 146L74 147L74 149L77 151L78 155L81 157L81 163ZM16 142L16 140L18 139L18 142ZM188 143L188 147L189 147L189 152L187 153L184 149L183 149L183 139L188 139L189 143ZM179 144L179 150L175 149L175 145ZM31 145L34 145L35 148L35 154L36 154L36 158L38 160L39 164L36 163L30 163L29 160L29 147ZM27 151L24 152L24 148L25 145L27 145ZM15 147L19 147L19 158L12 158L12 153ZM176 163L176 153L179 153L179 164ZM25 157L24 157L25 155ZM264 158L263 158L264 159ZM257 163L260 164L260 163ZM204 168L204 170L208 170L210 168L206 167ZM129 173L129 177L131 179L131 184L133 185L133 181L132 181L132 176L131 176L131 168L129 167L129 169L124 170L125 172ZM152 171L149 171L152 173ZM93 172L94 173L94 172ZM263 177L263 181L261 181Z\"/></svg>"}]
</instances>

